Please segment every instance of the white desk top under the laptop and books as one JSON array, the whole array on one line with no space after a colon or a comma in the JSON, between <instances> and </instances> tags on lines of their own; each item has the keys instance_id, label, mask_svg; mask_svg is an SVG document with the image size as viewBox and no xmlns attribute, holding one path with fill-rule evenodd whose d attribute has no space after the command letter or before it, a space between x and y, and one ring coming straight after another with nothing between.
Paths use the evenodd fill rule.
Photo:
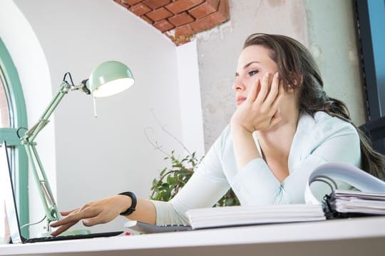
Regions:
<instances>
[{"instance_id":1,"label":"white desk top under the laptop and books","mask_svg":"<svg viewBox=\"0 0 385 256\"><path fill-rule=\"evenodd\" d=\"M0 245L0 255L385 255L385 217Z\"/></svg>"}]
</instances>

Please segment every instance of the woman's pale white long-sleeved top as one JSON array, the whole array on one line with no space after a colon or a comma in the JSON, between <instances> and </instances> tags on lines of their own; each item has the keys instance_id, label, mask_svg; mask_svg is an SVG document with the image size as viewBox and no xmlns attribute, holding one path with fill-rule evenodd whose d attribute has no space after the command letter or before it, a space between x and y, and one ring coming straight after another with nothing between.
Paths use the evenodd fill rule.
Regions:
<instances>
[{"instance_id":1,"label":"woman's pale white long-sleeved top","mask_svg":"<svg viewBox=\"0 0 385 256\"><path fill-rule=\"evenodd\" d=\"M258 150L256 133L253 134ZM304 203L304 188L311 172L321 164L345 162L359 167L361 151L356 129L337 117L316 112L302 114L289 153L289 176L281 183L263 159L253 159L237 169L230 126L212 145L188 183L170 202L153 201L156 222L188 224L185 212L213 206L231 187L245 206ZM312 191L322 198L330 192L325 183L314 182ZM339 188L347 189L339 182Z\"/></svg>"}]
</instances>

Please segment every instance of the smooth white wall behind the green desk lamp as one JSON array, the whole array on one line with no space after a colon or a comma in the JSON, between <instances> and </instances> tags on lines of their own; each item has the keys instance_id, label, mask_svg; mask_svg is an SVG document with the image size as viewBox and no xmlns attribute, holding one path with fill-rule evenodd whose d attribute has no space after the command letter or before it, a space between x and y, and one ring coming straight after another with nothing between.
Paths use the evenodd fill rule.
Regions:
<instances>
[{"instance_id":1,"label":"smooth white wall behind the green desk lamp","mask_svg":"<svg viewBox=\"0 0 385 256\"><path fill-rule=\"evenodd\" d=\"M55 122L49 124L56 134L55 149L51 154L42 153L41 158L46 163L56 152L59 208L69 210L121 191L135 191L138 197L148 198L153 178L168 164L150 145L143 129L153 127L149 135L163 150L183 151L152 114L153 110L173 136L182 137L173 43L113 1L15 2L46 56L52 83L44 90L56 92L66 71L78 83L105 60L126 63L136 80L130 90L97 100L97 119L93 118L91 97L81 92L70 92L58 106ZM25 61L17 58L17 63ZM42 72L31 63L17 68L21 75L27 69ZM31 81L29 86L37 85ZM36 104L48 104L46 99L36 102L29 97L33 99L27 101L29 112ZM40 135L37 140L39 151L41 144L52 143L42 141ZM35 198L31 200L36 203ZM116 230L122 223L123 218L118 218L93 230Z\"/></svg>"}]
</instances>

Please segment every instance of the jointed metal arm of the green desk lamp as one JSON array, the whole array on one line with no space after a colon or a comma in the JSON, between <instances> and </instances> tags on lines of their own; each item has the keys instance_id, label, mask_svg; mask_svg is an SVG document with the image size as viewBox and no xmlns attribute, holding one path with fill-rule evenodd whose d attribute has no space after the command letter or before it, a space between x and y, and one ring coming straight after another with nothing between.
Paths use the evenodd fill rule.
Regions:
<instances>
[{"instance_id":1,"label":"jointed metal arm of the green desk lamp","mask_svg":"<svg viewBox=\"0 0 385 256\"><path fill-rule=\"evenodd\" d=\"M86 82L82 82L82 85L74 86L69 85L66 81L63 81L58 92L41 115L39 122L37 122L24 134L23 137L21 137L21 144L23 144L24 148L26 149L29 163L34 174L34 180L36 181L36 186L39 191L41 203L43 203L43 207L46 212L46 218L48 220L48 231L50 230L49 223L51 223L51 221L59 220L60 215L58 213L55 198L53 197L53 193L51 191L51 186L49 186L48 179L46 177L46 172L43 169L39 154L36 150L36 142L34 142L34 140L39 132L41 132L44 127L46 127L49 122L49 117L51 117L53 111L56 110L58 104L61 102L61 100L63 100L64 95L66 95L69 90L81 89L86 92L84 87L86 87Z\"/></svg>"}]
</instances>

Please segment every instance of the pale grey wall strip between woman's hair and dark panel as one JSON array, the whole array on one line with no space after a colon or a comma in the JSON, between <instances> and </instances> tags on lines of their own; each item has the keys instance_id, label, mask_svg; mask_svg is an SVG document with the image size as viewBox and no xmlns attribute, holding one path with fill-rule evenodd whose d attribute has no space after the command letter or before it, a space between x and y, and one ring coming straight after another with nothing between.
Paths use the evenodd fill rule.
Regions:
<instances>
[{"instance_id":1,"label":"pale grey wall strip between woman's hair and dark panel","mask_svg":"<svg viewBox=\"0 0 385 256\"><path fill-rule=\"evenodd\" d=\"M344 101L359 126L366 120L353 1L306 0L309 49L327 94Z\"/></svg>"}]
</instances>

